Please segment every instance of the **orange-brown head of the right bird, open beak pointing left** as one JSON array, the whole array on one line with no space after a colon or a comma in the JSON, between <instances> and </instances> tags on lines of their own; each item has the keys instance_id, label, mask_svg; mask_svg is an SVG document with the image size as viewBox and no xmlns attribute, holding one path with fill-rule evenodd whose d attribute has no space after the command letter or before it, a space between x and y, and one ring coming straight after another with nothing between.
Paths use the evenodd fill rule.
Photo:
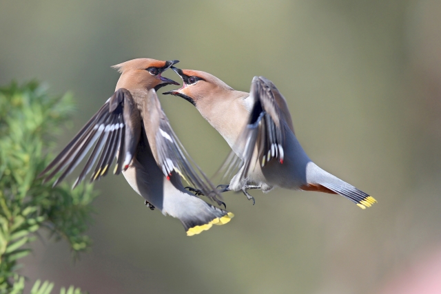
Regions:
<instances>
[{"instance_id":1,"label":"orange-brown head of the right bird, open beak pointing left","mask_svg":"<svg viewBox=\"0 0 441 294\"><path fill-rule=\"evenodd\" d=\"M181 76L183 86L179 89L165 92L165 95L174 95L184 98L196 107L205 103L212 103L212 99L226 97L227 92L234 91L219 78L207 72L199 70L181 70L177 67L170 67L176 74Z\"/></svg>"}]
</instances>

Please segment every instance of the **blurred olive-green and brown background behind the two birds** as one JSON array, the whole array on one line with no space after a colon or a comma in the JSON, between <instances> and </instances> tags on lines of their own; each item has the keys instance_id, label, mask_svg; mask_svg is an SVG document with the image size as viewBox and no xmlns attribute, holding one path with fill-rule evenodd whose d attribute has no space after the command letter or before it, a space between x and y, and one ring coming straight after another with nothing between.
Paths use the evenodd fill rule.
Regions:
<instances>
[{"instance_id":1,"label":"blurred olive-green and brown background behind the two birds","mask_svg":"<svg viewBox=\"0 0 441 294\"><path fill-rule=\"evenodd\" d=\"M237 90L271 79L309 156L378 200L226 193L232 222L189 238L107 176L92 251L72 262L63 242L34 242L23 275L90 293L440 293L440 28L435 0L0 0L0 84L37 78L79 103L59 150L114 92L110 65L178 59ZM187 101L160 99L214 174L223 138Z\"/></svg>"}]
</instances>

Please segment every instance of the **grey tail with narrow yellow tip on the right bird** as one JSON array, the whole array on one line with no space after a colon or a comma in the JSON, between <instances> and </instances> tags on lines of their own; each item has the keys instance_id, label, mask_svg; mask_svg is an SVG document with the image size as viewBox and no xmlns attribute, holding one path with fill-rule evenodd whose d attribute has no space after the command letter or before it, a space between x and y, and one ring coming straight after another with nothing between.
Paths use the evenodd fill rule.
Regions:
<instances>
[{"instance_id":1,"label":"grey tail with narrow yellow tip on the right bird","mask_svg":"<svg viewBox=\"0 0 441 294\"><path fill-rule=\"evenodd\" d=\"M309 162L307 165L307 182L309 185L302 187L302 189L340 194L362 209L371 207L372 204L377 202L377 200L369 196L369 194L349 185L347 182L329 174L327 171L320 169L314 162Z\"/></svg>"}]
</instances>

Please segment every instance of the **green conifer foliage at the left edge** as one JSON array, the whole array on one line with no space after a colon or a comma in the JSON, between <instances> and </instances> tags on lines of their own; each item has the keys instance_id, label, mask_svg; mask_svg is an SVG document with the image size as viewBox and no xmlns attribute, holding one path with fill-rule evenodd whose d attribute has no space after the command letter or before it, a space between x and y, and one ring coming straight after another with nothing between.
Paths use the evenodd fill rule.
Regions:
<instances>
[{"instance_id":1,"label":"green conifer foliage at the left edge","mask_svg":"<svg viewBox=\"0 0 441 294\"><path fill-rule=\"evenodd\" d=\"M92 185L73 191L68 183L52 188L39 173L53 156L54 138L74 112L72 95L52 96L32 81L0 88L0 294L23 293L18 260L39 229L70 244L74 255L90 246ZM37 281L30 293L49 294L53 284ZM64 288L61 293L66 293ZM71 287L67 293L81 293Z\"/></svg>"}]
</instances>

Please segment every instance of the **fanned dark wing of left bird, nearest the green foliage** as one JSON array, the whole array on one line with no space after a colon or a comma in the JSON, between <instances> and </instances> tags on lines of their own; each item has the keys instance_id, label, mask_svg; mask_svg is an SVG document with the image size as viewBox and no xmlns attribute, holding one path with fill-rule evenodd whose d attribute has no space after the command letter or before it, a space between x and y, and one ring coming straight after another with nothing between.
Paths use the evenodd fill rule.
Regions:
<instances>
[{"instance_id":1,"label":"fanned dark wing of left bird, nearest the green foliage","mask_svg":"<svg viewBox=\"0 0 441 294\"><path fill-rule=\"evenodd\" d=\"M96 167L90 182L98 180L107 174L116 156L118 160L114 174L120 174L121 169L127 169L136 151L141 134L141 116L132 98L132 94L123 88L117 90L99 109L60 154L50 162L40 177L43 182L51 180L59 171L63 174L55 180L59 184L68 176L93 148L85 167L74 182L72 189L79 185ZM100 156L101 154L101 156Z\"/></svg>"}]
</instances>

